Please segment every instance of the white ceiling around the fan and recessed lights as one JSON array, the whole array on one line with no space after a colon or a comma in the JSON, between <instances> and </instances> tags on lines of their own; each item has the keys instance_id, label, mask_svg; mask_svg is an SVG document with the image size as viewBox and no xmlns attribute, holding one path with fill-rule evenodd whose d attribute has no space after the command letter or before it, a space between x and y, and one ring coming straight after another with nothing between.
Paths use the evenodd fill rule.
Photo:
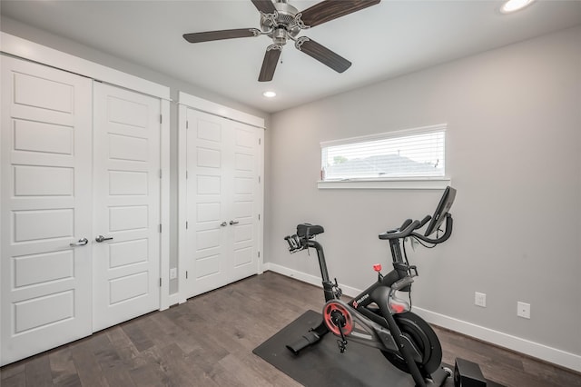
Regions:
<instances>
[{"instance_id":1,"label":"white ceiling around the fan and recessed lights","mask_svg":"<svg viewBox=\"0 0 581 387\"><path fill-rule=\"evenodd\" d=\"M340 0L338 0L340 1ZM290 0L299 10L316 1ZM581 24L581 1L537 0L514 15L497 0L383 0L305 30L349 59L332 71L292 42L259 83L265 35L192 45L185 33L259 26L250 0L2 0L2 15L272 113L331 94ZM581 44L581 43L580 43ZM278 96L267 99L265 90Z\"/></svg>"}]
</instances>

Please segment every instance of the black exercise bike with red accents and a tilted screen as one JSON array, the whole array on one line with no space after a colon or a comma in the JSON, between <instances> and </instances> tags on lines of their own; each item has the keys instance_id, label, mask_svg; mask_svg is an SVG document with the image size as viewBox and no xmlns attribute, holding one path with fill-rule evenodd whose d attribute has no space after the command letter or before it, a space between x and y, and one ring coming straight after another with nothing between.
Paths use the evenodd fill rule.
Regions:
<instances>
[{"instance_id":1,"label":"black exercise bike with red accents and a tilted screen","mask_svg":"<svg viewBox=\"0 0 581 387\"><path fill-rule=\"evenodd\" d=\"M419 274L417 267L409 264L405 242L406 238L413 238L435 246L447 241L453 224L448 210L455 196L456 190L448 186L433 216L428 215L421 221L408 219L399 228L380 233L379 239L389 242L393 270L383 275L381 265L374 265L377 282L347 303L341 300L342 291L337 279L334 283L330 281L322 245L313 239L324 232L323 227L299 224L297 233L284 239L289 243L291 253L310 248L317 251L326 303L320 325L287 348L299 354L300 350L320 342L325 334L332 332L338 337L340 352L346 351L348 342L359 342L379 349L399 370L411 374L417 386L442 385L452 372L441 366L442 348L436 332L417 314L410 312L411 283ZM430 220L426 232L418 233ZM438 236L443 222L446 229ZM436 238L431 238L430 235L437 231Z\"/></svg>"}]
</instances>

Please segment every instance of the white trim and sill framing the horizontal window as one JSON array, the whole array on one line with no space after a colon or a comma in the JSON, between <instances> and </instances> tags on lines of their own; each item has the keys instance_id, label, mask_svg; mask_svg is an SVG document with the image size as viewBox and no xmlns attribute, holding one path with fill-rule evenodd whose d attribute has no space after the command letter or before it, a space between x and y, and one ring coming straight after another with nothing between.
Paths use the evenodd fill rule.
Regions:
<instances>
[{"instance_id":1,"label":"white trim and sill framing the horizontal window","mask_svg":"<svg viewBox=\"0 0 581 387\"><path fill-rule=\"evenodd\" d=\"M448 124L434 124L428 126L421 126L419 128L404 129L382 134L370 134L357 137L344 138L340 140L324 141L320 143L320 154L322 157L322 149L328 146L357 144L364 142L371 142L377 140L384 140L389 138L397 138L415 134L426 134L435 131L448 132ZM446 170L448 171L448 157L447 157L447 143L448 139L445 136L444 140L444 160ZM322 165L322 159L320 160ZM446 188L451 184L451 178L448 172L444 176L410 176L410 177L392 177L392 178L352 178L343 180L320 180L317 182L319 189L412 189L412 190L440 190Z\"/></svg>"}]
</instances>

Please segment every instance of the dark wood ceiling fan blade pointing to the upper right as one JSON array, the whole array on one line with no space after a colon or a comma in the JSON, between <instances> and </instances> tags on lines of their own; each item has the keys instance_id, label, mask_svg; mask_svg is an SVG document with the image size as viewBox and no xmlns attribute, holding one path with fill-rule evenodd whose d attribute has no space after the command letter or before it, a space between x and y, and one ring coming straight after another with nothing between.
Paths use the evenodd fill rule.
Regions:
<instances>
[{"instance_id":1,"label":"dark wood ceiling fan blade pointing to the upper right","mask_svg":"<svg viewBox=\"0 0 581 387\"><path fill-rule=\"evenodd\" d=\"M314 27L330 22L338 17L352 14L371 5L379 4L381 0L325 0L305 9L300 14L304 27Z\"/></svg>"}]
</instances>

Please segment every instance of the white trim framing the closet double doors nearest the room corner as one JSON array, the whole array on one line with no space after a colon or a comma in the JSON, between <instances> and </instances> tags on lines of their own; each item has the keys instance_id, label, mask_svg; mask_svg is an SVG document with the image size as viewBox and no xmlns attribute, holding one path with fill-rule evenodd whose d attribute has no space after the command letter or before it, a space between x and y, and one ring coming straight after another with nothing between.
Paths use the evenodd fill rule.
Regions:
<instances>
[{"instance_id":1,"label":"white trim framing the closet double doors nearest the room corner","mask_svg":"<svg viewBox=\"0 0 581 387\"><path fill-rule=\"evenodd\" d=\"M191 94L179 93L178 100L178 293L179 303L187 301L187 290L183 284L186 281L184 267L187 267L187 110L192 108L202 111L204 113L218 115L227 119L241 122L243 124L250 124L252 126L264 129L264 119L256 117L251 114L246 114L235 109L231 109L221 104L215 104L211 101L193 96ZM263 272L263 252L264 252L264 133L260 134L261 149L259 151L259 173L261 174L261 183L259 187L258 198L260 200L259 211L261 213L261 220L259 223L258 232L258 251L260 258L258 260L257 273Z\"/></svg>"}]
</instances>

